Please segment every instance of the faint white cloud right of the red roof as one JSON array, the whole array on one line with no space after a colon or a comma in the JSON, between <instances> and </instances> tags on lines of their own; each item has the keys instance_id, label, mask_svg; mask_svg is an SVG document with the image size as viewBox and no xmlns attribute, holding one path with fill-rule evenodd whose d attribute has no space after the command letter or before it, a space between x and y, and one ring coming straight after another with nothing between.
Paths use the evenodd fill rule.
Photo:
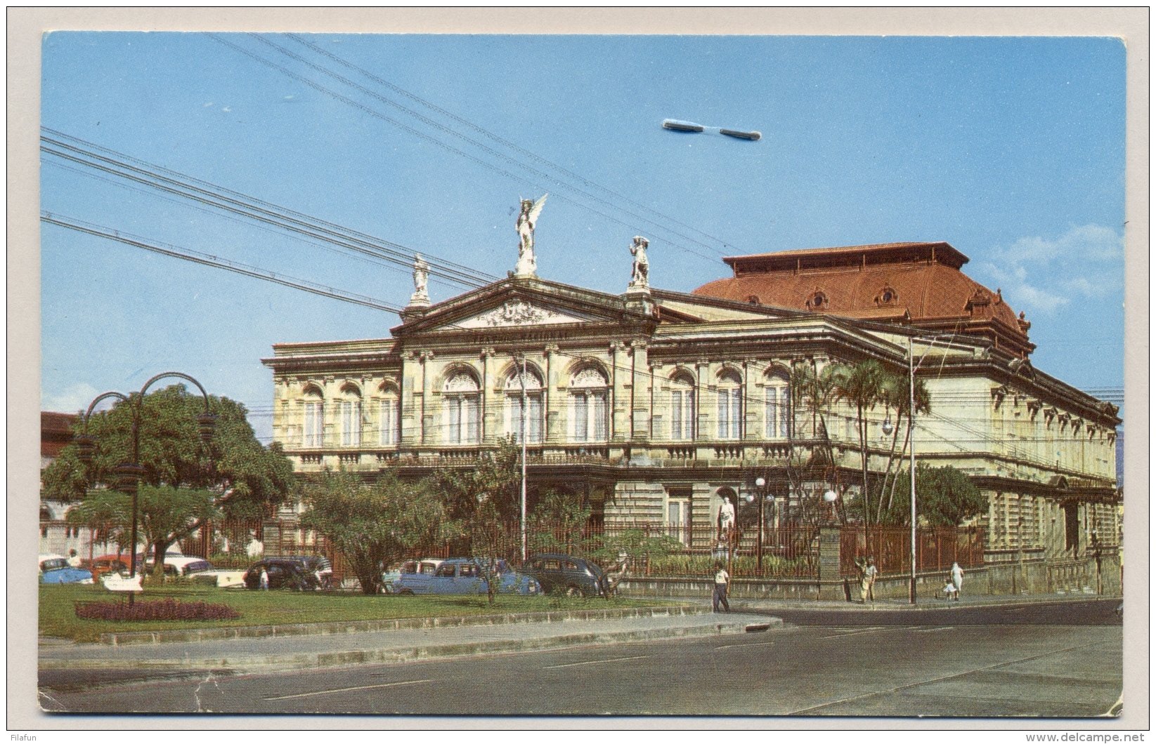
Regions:
<instances>
[{"instance_id":1,"label":"faint white cloud right of the red roof","mask_svg":"<svg viewBox=\"0 0 1156 744\"><path fill-rule=\"evenodd\" d=\"M1074 226L1054 239L1020 238L993 251L992 259L980 269L1011 306L1045 314L1079 297L1119 291L1124 283L1124 237L1103 225Z\"/></svg>"}]
</instances>

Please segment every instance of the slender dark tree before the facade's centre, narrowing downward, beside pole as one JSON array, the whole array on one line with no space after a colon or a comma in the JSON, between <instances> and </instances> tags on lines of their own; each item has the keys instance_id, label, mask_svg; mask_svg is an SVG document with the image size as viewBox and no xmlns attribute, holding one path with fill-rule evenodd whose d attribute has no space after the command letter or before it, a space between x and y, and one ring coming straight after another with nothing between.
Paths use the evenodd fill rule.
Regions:
<instances>
[{"instance_id":1,"label":"slender dark tree before the facade's centre, narrowing downward, beside pole","mask_svg":"<svg viewBox=\"0 0 1156 744\"><path fill-rule=\"evenodd\" d=\"M469 537L474 557L484 558L480 565L490 602L498 588L498 559L521 520L520 456L521 447L510 436L498 440L497 449L481 453L473 467L440 468L432 476L450 516Z\"/></svg>"}]
</instances>

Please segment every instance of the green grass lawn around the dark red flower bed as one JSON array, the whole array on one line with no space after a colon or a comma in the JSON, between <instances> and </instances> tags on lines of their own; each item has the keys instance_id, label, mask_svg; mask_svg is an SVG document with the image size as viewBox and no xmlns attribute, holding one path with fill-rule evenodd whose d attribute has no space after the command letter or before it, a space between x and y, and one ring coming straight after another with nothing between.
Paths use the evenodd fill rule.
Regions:
<instances>
[{"instance_id":1,"label":"green grass lawn around the dark red flower bed","mask_svg":"<svg viewBox=\"0 0 1156 744\"><path fill-rule=\"evenodd\" d=\"M287 625L294 623L329 623L341 620L378 620L405 617L450 617L459 615L495 615L504 612L544 612L547 610L601 610L607 608L664 607L683 604L662 600L518 596L499 594L494 604L486 595L394 596L363 594L323 594L311 592L249 592L177 583L148 588L138 601L172 597L183 602L228 604L240 612L235 620L87 620L76 617L76 602L117 602L114 595L98 585L40 585L39 633L76 641L97 641L101 633L131 631L170 631L243 625Z\"/></svg>"}]
</instances>

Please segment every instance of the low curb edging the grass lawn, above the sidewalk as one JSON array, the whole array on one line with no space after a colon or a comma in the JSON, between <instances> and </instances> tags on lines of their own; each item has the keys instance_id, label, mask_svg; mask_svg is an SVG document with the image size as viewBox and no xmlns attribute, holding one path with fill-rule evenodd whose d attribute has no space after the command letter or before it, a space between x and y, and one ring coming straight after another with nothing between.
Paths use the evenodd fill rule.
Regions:
<instances>
[{"instance_id":1,"label":"low curb edging the grass lawn, above the sidewalk","mask_svg":"<svg viewBox=\"0 0 1156 744\"><path fill-rule=\"evenodd\" d=\"M569 620L615 620L639 617L689 617L706 615L710 608L659 607L618 608L606 610L558 610L555 612L506 612L503 615L459 615L452 617L412 617L390 620L349 620L335 623L298 623L292 625L242 625L195 631L135 631L132 633L101 633L101 643L128 646L133 643L186 643L218 641L238 638L277 638L287 635L333 635L339 633L375 633L432 627L468 627L475 625L506 625L510 623L564 623Z\"/></svg>"}]
</instances>

